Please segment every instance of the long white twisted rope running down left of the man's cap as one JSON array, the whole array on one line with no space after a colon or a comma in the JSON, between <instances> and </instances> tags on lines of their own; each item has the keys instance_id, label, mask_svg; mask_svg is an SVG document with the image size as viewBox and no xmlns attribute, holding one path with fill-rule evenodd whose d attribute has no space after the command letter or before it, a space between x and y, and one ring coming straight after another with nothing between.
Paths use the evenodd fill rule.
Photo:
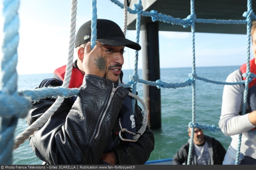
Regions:
<instances>
[{"instance_id":1,"label":"long white twisted rope running down left of the man's cap","mask_svg":"<svg viewBox=\"0 0 256 170\"><path fill-rule=\"evenodd\" d=\"M71 23L70 23L70 36L69 36L69 54L68 62L66 66L66 73L63 80L63 87L68 88L71 79L72 68L73 68L73 54L74 54L74 42L75 42L75 26L76 26L76 15L77 15L77 0L72 0L71 2ZM14 139L14 149L18 148L26 139L29 138L36 130L38 130L43 124L45 124L50 116L53 115L55 111L58 110L62 104L65 97L58 97L53 105L37 119L33 124L31 124L27 129L25 129L19 136Z\"/></svg>"}]
</instances>

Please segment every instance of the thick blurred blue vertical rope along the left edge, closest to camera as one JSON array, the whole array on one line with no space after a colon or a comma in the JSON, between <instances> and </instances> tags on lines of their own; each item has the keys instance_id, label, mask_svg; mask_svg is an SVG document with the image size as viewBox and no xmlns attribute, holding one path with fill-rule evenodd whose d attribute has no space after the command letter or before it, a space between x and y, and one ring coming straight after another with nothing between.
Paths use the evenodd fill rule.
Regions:
<instances>
[{"instance_id":1,"label":"thick blurred blue vertical rope along the left edge, closest to camera","mask_svg":"<svg viewBox=\"0 0 256 170\"><path fill-rule=\"evenodd\" d=\"M2 80L0 82L0 98L6 96L8 100L15 98L17 105L27 107L30 103L23 101L17 96L17 46L19 43L19 17L17 10L19 0L3 0L3 44L1 60ZM7 100L6 99L6 100ZM1 101L2 103L2 101ZM14 104L14 107L16 104ZM12 108L10 108L12 109ZM8 115L8 110L1 107L0 114L3 115L0 122L0 164L11 164L12 149L14 144L14 130L17 125L18 117L24 117L24 110L20 113Z\"/></svg>"}]
</instances>

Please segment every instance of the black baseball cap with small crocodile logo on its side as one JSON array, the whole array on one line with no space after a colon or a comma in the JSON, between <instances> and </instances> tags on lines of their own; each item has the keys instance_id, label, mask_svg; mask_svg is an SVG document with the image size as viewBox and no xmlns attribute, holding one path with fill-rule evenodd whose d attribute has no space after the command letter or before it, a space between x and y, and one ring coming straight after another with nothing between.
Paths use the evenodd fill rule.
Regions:
<instances>
[{"instance_id":1,"label":"black baseball cap with small crocodile logo on its side","mask_svg":"<svg viewBox=\"0 0 256 170\"><path fill-rule=\"evenodd\" d=\"M129 48L140 50L141 46L125 38L122 29L113 21L106 19L97 19L97 41L110 46L127 46ZM84 23L75 37L75 47L91 41L91 20Z\"/></svg>"}]
</instances>

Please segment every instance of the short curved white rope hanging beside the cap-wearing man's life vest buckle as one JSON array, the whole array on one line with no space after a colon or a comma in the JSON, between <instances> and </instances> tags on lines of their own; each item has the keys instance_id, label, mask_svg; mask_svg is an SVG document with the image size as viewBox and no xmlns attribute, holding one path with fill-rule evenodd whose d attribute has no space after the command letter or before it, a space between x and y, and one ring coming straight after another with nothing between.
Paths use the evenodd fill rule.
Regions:
<instances>
[{"instance_id":1,"label":"short curved white rope hanging beside the cap-wearing man's life vest buckle","mask_svg":"<svg viewBox=\"0 0 256 170\"><path fill-rule=\"evenodd\" d=\"M143 102L143 100L139 96L137 96L136 94L130 93L130 92L128 95L139 100L144 109L143 111L141 111L141 113L143 114L142 126L141 126L140 130L137 131L136 136L133 136L133 139L136 140L136 139L140 138L140 136L146 130L146 127L148 125L148 110L146 109L146 104Z\"/></svg>"}]
</instances>

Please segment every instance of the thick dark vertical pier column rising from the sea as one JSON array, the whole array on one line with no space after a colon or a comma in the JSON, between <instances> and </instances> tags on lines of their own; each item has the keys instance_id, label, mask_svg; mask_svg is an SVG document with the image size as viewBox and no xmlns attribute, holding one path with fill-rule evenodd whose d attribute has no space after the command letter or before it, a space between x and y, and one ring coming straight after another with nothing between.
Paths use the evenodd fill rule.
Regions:
<instances>
[{"instance_id":1,"label":"thick dark vertical pier column rising from the sea","mask_svg":"<svg viewBox=\"0 0 256 170\"><path fill-rule=\"evenodd\" d=\"M160 79L158 23L141 25L143 79ZM149 110L151 129L161 128L161 91L155 86L143 85L143 99Z\"/></svg>"}]
</instances>

